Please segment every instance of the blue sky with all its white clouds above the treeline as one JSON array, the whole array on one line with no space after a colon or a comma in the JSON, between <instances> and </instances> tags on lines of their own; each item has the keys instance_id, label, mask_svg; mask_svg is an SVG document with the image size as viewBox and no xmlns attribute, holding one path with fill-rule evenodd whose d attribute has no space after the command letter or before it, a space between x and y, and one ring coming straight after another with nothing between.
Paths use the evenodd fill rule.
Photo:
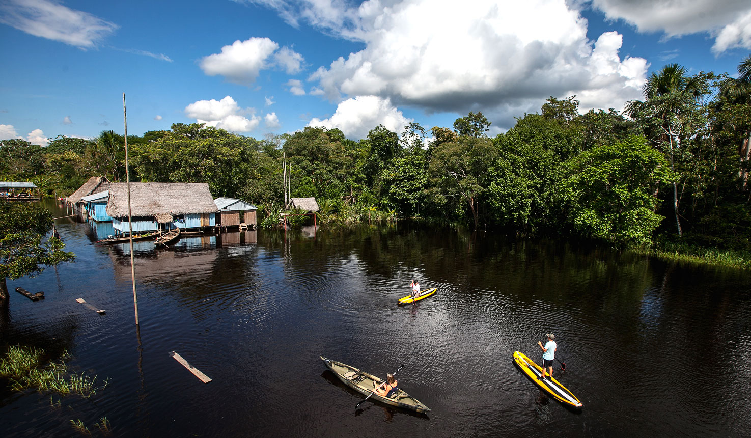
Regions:
<instances>
[{"instance_id":1,"label":"blue sky with all its white clouds above the treeline","mask_svg":"<svg viewBox=\"0 0 751 438\"><path fill-rule=\"evenodd\" d=\"M201 122L248 137L623 110L669 63L751 54L749 0L0 0L0 140Z\"/></svg>"}]
</instances>

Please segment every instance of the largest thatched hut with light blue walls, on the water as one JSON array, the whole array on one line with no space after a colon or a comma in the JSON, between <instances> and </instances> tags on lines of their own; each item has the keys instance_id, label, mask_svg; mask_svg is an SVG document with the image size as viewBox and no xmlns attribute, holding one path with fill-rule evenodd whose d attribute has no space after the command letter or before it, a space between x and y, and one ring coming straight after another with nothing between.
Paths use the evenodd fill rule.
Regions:
<instances>
[{"instance_id":1,"label":"largest thatched hut with light blue walls, on the water","mask_svg":"<svg viewBox=\"0 0 751 438\"><path fill-rule=\"evenodd\" d=\"M133 232L199 230L216 225L219 209L207 183L131 183ZM107 214L116 234L127 235L128 185L110 184Z\"/></svg>"}]
</instances>

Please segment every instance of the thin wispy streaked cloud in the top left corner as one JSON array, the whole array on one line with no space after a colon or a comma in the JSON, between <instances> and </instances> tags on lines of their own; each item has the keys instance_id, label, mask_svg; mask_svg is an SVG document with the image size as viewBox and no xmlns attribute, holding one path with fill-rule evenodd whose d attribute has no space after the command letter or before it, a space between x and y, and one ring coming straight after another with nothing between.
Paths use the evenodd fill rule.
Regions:
<instances>
[{"instance_id":1,"label":"thin wispy streaked cloud in the top left corner","mask_svg":"<svg viewBox=\"0 0 751 438\"><path fill-rule=\"evenodd\" d=\"M89 49L119 27L88 12L76 11L51 0L0 2L0 23L29 35Z\"/></svg>"}]
</instances>

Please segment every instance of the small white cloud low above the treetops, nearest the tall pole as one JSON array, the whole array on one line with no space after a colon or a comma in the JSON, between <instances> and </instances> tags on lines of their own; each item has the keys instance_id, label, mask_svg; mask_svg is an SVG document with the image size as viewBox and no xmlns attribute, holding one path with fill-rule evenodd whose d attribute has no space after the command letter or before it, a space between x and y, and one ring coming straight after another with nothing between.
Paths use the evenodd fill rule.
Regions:
<instances>
[{"instance_id":1,"label":"small white cloud low above the treetops, nearest the tall pole","mask_svg":"<svg viewBox=\"0 0 751 438\"><path fill-rule=\"evenodd\" d=\"M231 96L222 100L195 101L185 107L185 115L207 126L231 132L249 132L258 127L261 118L252 108L241 108Z\"/></svg>"}]
</instances>

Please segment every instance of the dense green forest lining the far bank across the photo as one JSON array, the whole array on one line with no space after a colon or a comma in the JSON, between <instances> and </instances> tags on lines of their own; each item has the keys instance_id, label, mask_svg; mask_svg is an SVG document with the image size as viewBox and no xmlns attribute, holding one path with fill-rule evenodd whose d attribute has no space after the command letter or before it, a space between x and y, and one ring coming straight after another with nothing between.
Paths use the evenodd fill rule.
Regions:
<instances>
[{"instance_id":1,"label":"dense green forest lining the far bank across the photo","mask_svg":"<svg viewBox=\"0 0 751 438\"><path fill-rule=\"evenodd\" d=\"M339 129L256 140L178 123L128 136L128 154L131 180L207 182L215 197L257 204L262 225L284 204L284 154L291 196L315 197L322 222L419 217L751 259L751 56L737 79L666 65L624 113L580 114L575 96L551 96L504 134L487 137L489 126L471 112L451 128L379 125L354 141ZM2 140L0 156L0 179L50 194L69 195L91 176L125 180L125 141L113 131L47 147Z\"/></svg>"}]
</instances>

